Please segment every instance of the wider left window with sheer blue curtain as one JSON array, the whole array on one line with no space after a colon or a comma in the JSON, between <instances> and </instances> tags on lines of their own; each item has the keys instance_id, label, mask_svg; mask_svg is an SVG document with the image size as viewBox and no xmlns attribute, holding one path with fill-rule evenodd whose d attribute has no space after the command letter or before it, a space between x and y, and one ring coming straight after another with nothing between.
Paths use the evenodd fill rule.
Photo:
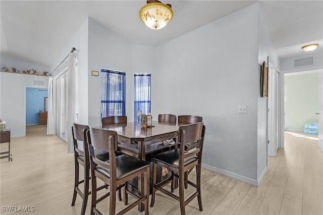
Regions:
<instances>
[{"instance_id":1,"label":"wider left window with sheer blue curtain","mask_svg":"<svg viewBox=\"0 0 323 215\"><path fill-rule=\"evenodd\" d=\"M101 119L126 116L126 73L101 69Z\"/></svg>"}]
</instances>

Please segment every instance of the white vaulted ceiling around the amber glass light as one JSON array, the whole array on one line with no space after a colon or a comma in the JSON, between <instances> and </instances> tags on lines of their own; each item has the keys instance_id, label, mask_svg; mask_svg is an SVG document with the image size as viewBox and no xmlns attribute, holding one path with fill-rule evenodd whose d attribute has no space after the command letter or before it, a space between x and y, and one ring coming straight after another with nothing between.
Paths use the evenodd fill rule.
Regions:
<instances>
[{"instance_id":1,"label":"white vaulted ceiling around the amber glass light","mask_svg":"<svg viewBox=\"0 0 323 215\"><path fill-rule=\"evenodd\" d=\"M280 58L306 55L300 47L313 41L320 43L315 51L323 51L323 1L163 1L172 5L174 17L165 28L152 30L138 16L144 0L1 0L1 55L53 66L87 17L132 43L157 46L255 2Z\"/></svg>"}]
</instances>

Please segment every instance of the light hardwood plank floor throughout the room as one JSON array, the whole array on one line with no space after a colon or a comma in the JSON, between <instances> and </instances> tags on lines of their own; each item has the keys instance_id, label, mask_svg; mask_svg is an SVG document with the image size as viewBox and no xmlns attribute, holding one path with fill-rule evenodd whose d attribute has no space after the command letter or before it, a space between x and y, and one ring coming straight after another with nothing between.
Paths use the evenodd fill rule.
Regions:
<instances>
[{"instance_id":1,"label":"light hardwood plank floor throughout the room","mask_svg":"<svg viewBox=\"0 0 323 215\"><path fill-rule=\"evenodd\" d=\"M1 151L6 145L1 144ZM66 153L66 144L55 135L37 132L12 138L11 146L13 161L5 158L0 163L0 213L79 214L79 196L71 206L74 160L73 154ZM268 157L268 171L258 187L203 170L202 197L203 211L194 199L185 207L187 214L323 214L323 153L317 146L317 135L285 133L285 149ZM129 202L133 202L131 197ZM90 198L86 214L90 213L89 205ZM4 211L6 206L16 206L16 210L29 206L34 211L8 212ZM98 207L108 214L109 200ZM123 207L123 202L117 201L117 211ZM179 204L157 192L149 213L180 214ZM133 208L128 214L143 213Z\"/></svg>"}]
</instances>

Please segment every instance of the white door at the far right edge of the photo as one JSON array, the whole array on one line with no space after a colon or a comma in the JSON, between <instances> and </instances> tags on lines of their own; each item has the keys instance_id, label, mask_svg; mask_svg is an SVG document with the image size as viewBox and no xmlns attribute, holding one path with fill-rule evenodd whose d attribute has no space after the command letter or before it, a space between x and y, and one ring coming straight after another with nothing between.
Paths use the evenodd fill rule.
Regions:
<instances>
[{"instance_id":1,"label":"white door at the far right edge of the photo","mask_svg":"<svg viewBox=\"0 0 323 215\"><path fill-rule=\"evenodd\" d=\"M323 71L318 78L318 146L323 151Z\"/></svg>"}]
</instances>

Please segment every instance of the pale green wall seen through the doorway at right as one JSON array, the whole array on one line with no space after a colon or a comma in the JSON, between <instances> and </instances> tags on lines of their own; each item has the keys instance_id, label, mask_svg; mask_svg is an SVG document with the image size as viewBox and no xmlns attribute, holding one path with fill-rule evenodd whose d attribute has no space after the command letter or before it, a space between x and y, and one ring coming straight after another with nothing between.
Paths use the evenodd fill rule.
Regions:
<instances>
[{"instance_id":1,"label":"pale green wall seen through the doorway at right","mask_svg":"<svg viewBox=\"0 0 323 215\"><path fill-rule=\"evenodd\" d=\"M303 131L318 122L318 73L285 75L285 129Z\"/></svg>"}]
</instances>

